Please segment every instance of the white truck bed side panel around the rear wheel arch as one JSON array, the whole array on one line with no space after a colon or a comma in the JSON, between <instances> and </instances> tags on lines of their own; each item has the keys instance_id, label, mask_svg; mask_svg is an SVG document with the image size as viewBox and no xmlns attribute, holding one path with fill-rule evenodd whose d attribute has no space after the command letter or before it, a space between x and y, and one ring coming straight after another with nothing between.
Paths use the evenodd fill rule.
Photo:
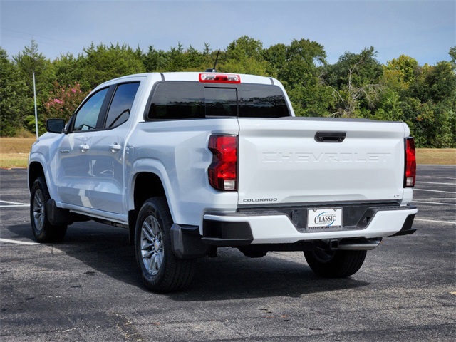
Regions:
<instances>
[{"instance_id":1,"label":"white truck bed side panel around the rear wheel arch","mask_svg":"<svg viewBox=\"0 0 456 342\"><path fill-rule=\"evenodd\" d=\"M207 149L209 136L237 135L236 119L204 119L141 123L129 144L134 146L130 184L138 172L156 170L165 187L175 222L201 225L204 212L237 209L237 192L221 193L207 181L212 153ZM150 144L144 144L149 141ZM132 189L131 186L128 189ZM130 208L133 206L130 194Z\"/></svg>"}]
</instances>

